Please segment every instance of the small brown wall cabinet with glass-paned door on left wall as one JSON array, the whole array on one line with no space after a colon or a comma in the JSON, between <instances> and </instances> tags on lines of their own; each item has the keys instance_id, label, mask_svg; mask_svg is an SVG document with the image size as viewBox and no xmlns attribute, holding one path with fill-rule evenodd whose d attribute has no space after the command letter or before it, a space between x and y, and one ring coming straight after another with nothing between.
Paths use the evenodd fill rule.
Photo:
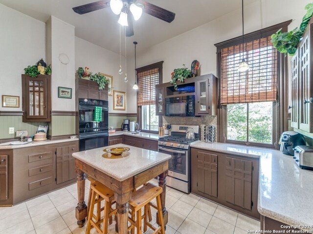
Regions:
<instances>
[{"instance_id":1,"label":"small brown wall cabinet with glass-paned door on left wall","mask_svg":"<svg viewBox=\"0 0 313 234\"><path fill-rule=\"evenodd\" d=\"M22 75L23 122L51 121L51 76Z\"/></svg>"}]
</instances>

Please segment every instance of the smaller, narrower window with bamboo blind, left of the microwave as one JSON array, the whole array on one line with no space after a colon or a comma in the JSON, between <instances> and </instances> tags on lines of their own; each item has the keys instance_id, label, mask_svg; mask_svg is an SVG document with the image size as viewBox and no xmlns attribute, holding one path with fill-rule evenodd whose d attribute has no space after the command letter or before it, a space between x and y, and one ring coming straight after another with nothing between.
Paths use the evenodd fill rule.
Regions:
<instances>
[{"instance_id":1,"label":"smaller, narrower window with bamboo blind, left of the microwave","mask_svg":"<svg viewBox=\"0 0 313 234\"><path fill-rule=\"evenodd\" d=\"M156 116L156 85L162 83L163 61L137 68L137 119L143 132L157 132L162 118Z\"/></svg>"}]
</instances>

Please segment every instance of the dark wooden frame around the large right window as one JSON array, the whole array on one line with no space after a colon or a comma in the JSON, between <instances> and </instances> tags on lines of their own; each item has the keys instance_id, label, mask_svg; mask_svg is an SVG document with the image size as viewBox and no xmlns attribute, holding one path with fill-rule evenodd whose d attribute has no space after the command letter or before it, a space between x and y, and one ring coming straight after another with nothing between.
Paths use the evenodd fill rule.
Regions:
<instances>
[{"instance_id":1,"label":"dark wooden frame around the large right window","mask_svg":"<svg viewBox=\"0 0 313 234\"><path fill-rule=\"evenodd\" d=\"M244 35L244 43L265 38L273 33L276 33L280 28L282 32L288 31L288 25L292 20L288 20L273 26L269 26L264 29L254 31ZM239 36L233 39L225 40L223 42L215 44L217 47L217 76L221 77L221 52L223 48L242 44L243 37ZM273 131L272 131L272 144L257 143L257 142L244 142L236 140L227 140L227 105L221 104L221 82L219 82L219 106L218 106L218 142L232 143L239 145L257 146L263 148L275 148L279 149L278 141L280 135L288 131L288 62L287 57L281 53L277 53L277 101L273 102Z\"/></svg>"}]
</instances>

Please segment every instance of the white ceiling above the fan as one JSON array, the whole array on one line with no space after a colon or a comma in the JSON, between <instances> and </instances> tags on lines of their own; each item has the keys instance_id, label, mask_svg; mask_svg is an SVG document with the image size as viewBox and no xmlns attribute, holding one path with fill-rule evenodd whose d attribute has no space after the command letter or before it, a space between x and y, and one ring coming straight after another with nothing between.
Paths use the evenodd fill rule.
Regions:
<instances>
[{"instance_id":1,"label":"white ceiling above the fan","mask_svg":"<svg viewBox=\"0 0 313 234\"><path fill-rule=\"evenodd\" d=\"M0 0L0 3L43 22L50 15L55 16L74 25L77 37L119 53L118 16L112 13L110 7L85 15L78 15L72 10L72 7L93 1L95 0ZM130 51L133 51L133 41L138 41L137 49L140 52L241 8L241 0L148 1L175 12L175 20L167 23L143 13L138 21L134 21L134 36L127 38ZM245 4L254 1L257 0L245 0Z\"/></svg>"}]
</instances>

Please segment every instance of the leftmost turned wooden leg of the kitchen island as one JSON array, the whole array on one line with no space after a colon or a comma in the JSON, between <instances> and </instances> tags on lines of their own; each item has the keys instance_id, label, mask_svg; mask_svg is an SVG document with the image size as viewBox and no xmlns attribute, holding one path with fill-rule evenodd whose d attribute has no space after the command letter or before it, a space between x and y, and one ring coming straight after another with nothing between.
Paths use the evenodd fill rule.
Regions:
<instances>
[{"instance_id":1,"label":"leftmost turned wooden leg of the kitchen island","mask_svg":"<svg viewBox=\"0 0 313 234\"><path fill-rule=\"evenodd\" d=\"M77 174L77 193L78 203L76 206L75 216L77 219L78 227L83 227L87 217L87 206L85 203L85 179L86 175L79 168L75 167Z\"/></svg>"}]
</instances>

